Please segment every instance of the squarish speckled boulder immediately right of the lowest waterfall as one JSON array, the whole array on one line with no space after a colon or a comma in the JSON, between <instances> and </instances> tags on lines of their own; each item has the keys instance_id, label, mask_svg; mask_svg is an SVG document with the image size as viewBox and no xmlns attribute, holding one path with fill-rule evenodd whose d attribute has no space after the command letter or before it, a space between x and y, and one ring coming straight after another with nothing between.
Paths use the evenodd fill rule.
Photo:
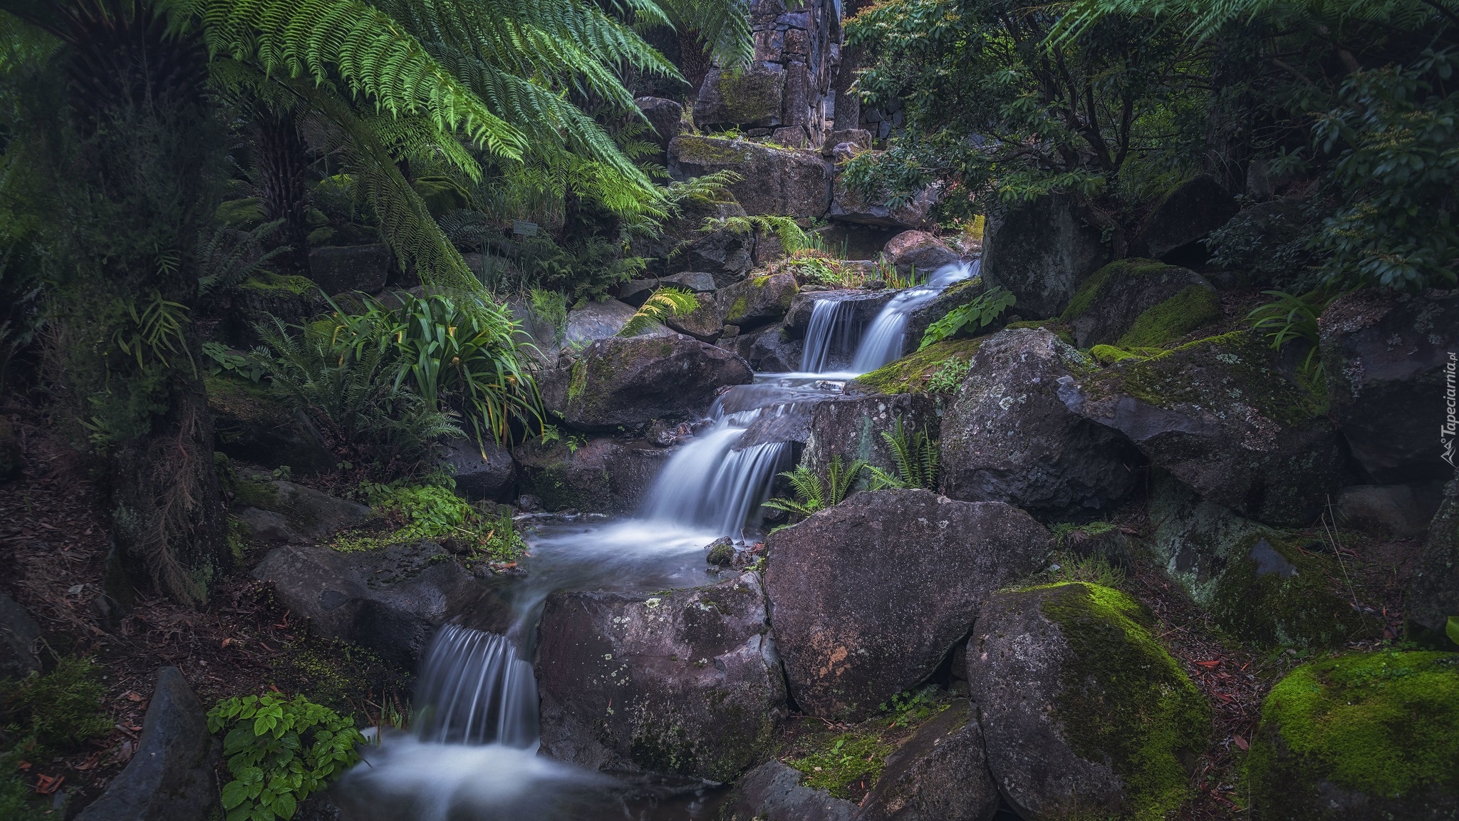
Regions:
<instances>
[{"instance_id":1,"label":"squarish speckled boulder immediately right of the lowest waterfall","mask_svg":"<svg viewBox=\"0 0 1459 821\"><path fill-rule=\"evenodd\" d=\"M785 687L746 573L667 593L553 593L537 628L541 749L725 782L769 751Z\"/></svg>"}]
</instances>

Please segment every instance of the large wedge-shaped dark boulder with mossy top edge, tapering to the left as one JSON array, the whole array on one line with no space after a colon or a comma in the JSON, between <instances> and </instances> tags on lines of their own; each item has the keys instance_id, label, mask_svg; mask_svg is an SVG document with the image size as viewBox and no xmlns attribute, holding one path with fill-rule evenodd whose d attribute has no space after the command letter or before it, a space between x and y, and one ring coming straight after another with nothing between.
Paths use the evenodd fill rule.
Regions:
<instances>
[{"instance_id":1,"label":"large wedge-shaped dark boulder with mossy top edge, tapering to the left","mask_svg":"<svg viewBox=\"0 0 1459 821\"><path fill-rule=\"evenodd\" d=\"M1061 396L1202 497L1269 524L1306 526L1342 486L1326 399L1284 375L1250 332L1115 362Z\"/></svg>"}]
</instances>

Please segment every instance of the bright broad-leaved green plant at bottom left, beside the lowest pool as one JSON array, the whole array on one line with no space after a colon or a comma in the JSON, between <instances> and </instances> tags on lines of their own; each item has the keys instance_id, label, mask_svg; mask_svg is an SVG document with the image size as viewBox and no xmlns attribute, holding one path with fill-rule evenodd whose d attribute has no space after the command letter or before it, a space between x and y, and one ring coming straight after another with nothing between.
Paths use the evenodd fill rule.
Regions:
<instances>
[{"instance_id":1,"label":"bright broad-leaved green plant at bottom left, beside the lowest pool","mask_svg":"<svg viewBox=\"0 0 1459 821\"><path fill-rule=\"evenodd\" d=\"M209 710L207 729L228 730L223 755L233 776L223 784L228 821L293 818L301 801L359 761L355 748L365 742L355 719L303 695L223 698Z\"/></svg>"}]
</instances>

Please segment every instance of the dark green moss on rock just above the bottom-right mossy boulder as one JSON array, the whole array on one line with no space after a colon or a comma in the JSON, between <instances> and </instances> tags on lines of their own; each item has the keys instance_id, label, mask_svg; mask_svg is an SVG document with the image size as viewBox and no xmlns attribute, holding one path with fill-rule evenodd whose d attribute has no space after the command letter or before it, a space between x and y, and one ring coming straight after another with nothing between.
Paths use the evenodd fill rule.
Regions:
<instances>
[{"instance_id":1,"label":"dark green moss on rock just above the bottom-right mossy boulder","mask_svg":"<svg viewBox=\"0 0 1459 821\"><path fill-rule=\"evenodd\" d=\"M1376 637L1383 625L1352 609L1345 576L1335 555L1250 533L1228 554L1208 609L1231 635L1259 644L1338 647Z\"/></svg>"}]
</instances>

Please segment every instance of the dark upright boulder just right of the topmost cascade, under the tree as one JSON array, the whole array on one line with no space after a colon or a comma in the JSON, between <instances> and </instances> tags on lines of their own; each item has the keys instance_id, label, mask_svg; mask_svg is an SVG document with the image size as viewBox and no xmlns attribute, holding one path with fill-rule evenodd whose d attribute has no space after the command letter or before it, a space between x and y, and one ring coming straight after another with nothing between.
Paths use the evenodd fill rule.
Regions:
<instances>
[{"instance_id":1,"label":"dark upright boulder just right of the topmost cascade, under the tree","mask_svg":"<svg viewBox=\"0 0 1459 821\"><path fill-rule=\"evenodd\" d=\"M1056 317L1109 257L1100 225L1074 197L1048 194L989 215L982 276L1017 297L1020 316Z\"/></svg>"}]
</instances>

